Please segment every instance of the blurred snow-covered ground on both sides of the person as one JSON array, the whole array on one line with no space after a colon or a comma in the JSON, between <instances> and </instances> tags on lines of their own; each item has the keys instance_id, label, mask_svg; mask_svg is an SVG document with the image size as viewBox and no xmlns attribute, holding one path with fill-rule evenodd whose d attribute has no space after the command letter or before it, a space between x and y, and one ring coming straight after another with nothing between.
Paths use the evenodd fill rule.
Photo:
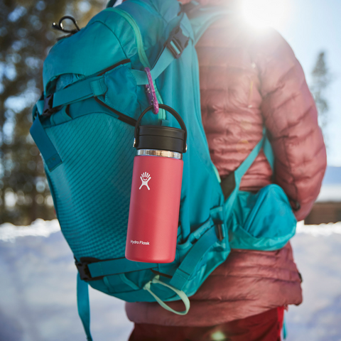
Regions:
<instances>
[{"instance_id":1,"label":"blurred snow-covered ground on both sides of the person","mask_svg":"<svg viewBox=\"0 0 341 341\"><path fill-rule=\"evenodd\" d=\"M341 340L341 222L298 225L293 250L302 305L286 314L288 341ZM77 341L76 268L58 222L0 226L0 341ZM94 340L126 341L124 302L90 288Z\"/></svg>"}]
</instances>

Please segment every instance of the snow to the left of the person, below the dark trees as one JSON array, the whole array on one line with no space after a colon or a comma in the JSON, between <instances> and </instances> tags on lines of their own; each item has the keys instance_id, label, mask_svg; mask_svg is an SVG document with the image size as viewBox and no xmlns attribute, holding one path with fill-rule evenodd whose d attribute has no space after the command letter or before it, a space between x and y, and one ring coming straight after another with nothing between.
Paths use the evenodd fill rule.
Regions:
<instances>
[{"instance_id":1,"label":"snow to the left of the person, below the dark trees","mask_svg":"<svg viewBox=\"0 0 341 341\"><path fill-rule=\"evenodd\" d=\"M3 228L4 227L4 228ZM57 220L0 227L0 340L84 341L77 315L77 270ZM90 288L94 340L126 341L124 302Z\"/></svg>"}]
</instances>

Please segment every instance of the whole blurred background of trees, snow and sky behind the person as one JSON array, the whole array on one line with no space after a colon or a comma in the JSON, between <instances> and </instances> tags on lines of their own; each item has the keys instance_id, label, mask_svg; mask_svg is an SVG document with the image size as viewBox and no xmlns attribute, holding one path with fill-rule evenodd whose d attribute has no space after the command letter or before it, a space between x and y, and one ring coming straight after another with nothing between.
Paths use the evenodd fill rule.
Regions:
<instances>
[{"instance_id":1,"label":"whole blurred background of trees, snow and sky behind the person","mask_svg":"<svg viewBox=\"0 0 341 341\"><path fill-rule=\"evenodd\" d=\"M84 27L106 3L0 0L0 341L85 340L72 254L29 129L42 91L43 60L63 35L52 23L71 15ZM288 340L340 341L341 1L239 0L239 10L252 29L272 26L293 48L328 148L320 196L293 238L304 303L288 313ZM91 295L95 340L126 340L131 324L124 304Z\"/></svg>"}]
</instances>

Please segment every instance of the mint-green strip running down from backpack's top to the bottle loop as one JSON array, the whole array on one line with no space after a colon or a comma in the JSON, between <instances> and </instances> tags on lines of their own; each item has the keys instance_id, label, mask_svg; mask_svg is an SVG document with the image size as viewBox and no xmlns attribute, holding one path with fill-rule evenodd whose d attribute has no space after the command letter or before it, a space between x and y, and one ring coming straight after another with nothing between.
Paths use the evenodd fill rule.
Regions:
<instances>
[{"instance_id":1,"label":"mint-green strip running down from backpack's top to the bottle loop","mask_svg":"<svg viewBox=\"0 0 341 341\"><path fill-rule=\"evenodd\" d=\"M146 55L146 51L144 50L144 40L142 39L141 31L139 26L137 25L136 21L134 18L127 13L126 11L123 11L121 9L109 9L110 11L116 12L120 16L126 19L128 23L130 24L131 28L133 28L133 31L136 36L136 45L137 45L137 53L139 54L139 60L144 67L149 67L151 68L151 65L149 63L149 60ZM158 99L158 103L163 104L163 100L161 97L160 92L158 91L158 87L156 86L155 80L153 80L153 85L155 88L155 93L156 93L156 98ZM160 109L158 112L158 119L166 119L166 112L163 109Z\"/></svg>"}]
</instances>

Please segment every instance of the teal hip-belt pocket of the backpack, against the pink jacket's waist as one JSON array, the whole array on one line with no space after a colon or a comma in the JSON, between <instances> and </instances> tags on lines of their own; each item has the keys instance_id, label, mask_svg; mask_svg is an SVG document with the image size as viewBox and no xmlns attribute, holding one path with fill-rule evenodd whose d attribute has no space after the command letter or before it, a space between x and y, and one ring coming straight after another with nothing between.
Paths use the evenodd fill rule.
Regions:
<instances>
[{"instance_id":1,"label":"teal hip-belt pocket of the backpack, against the pink jacket's waist","mask_svg":"<svg viewBox=\"0 0 341 341\"><path fill-rule=\"evenodd\" d=\"M256 194L239 191L229 244L232 249L281 249L294 236L296 222L288 197L278 185L268 185Z\"/></svg>"}]
</instances>

